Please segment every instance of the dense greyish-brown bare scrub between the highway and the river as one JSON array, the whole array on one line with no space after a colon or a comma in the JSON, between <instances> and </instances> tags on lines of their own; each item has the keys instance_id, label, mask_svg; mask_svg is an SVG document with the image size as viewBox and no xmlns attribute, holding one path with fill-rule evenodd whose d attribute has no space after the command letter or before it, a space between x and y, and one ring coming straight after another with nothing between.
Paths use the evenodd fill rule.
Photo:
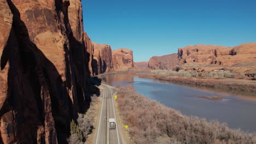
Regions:
<instances>
[{"instance_id":1,"label":"dense greyish-brown bare scrub between the highway and the river","mask_svg":"<svg viewBox=\"0 0 256 144\"><path fill-rule=\"evenodd\" d=\"M256 143L255 134L184 116L138 94L132 86L118 90L118 108L136 143Z\"/></svg>"}]
</instances>

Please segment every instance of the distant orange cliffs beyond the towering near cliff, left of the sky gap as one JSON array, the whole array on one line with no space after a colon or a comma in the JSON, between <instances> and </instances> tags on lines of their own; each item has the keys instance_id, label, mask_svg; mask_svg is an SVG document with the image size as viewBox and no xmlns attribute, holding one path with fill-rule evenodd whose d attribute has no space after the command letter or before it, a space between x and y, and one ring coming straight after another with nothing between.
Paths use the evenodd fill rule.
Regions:
<instances>
[{"instance_id":1,"label":"distant orange cliffs beyond the towering near cliff, left of the sky gap","mask_svg":"<svg viewBox=\"0 0 256 144\"><path fill-rule=\"evenodd\" d=\"M90 57L89 69L91 75L133 68L132 50L124 48L112 50L110 45L91 43L86 32L84 33L84 41L87 45L86 51Z\"/></svg>"}]
</instances>

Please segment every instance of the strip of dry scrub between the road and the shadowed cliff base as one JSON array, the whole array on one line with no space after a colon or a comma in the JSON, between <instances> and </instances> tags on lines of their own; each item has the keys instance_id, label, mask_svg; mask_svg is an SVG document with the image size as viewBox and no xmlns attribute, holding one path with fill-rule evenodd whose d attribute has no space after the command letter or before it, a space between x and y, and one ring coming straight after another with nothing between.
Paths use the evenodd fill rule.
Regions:
<instances>
[{"instance_id":1,"label":"strip of dry scrub between the road and the shadowed cliff base","mask_svg":"<svg viewBox=\"0 0 256 144\"><path fill-rule=\"evenodd\" d=\"M83 143L87 139L88 135L92 133L94 129L94 118L96 113L96 104L98 98L96 95L91 97L90 108L88 111L83 113L78 113L77 122L73 119L71 121L71 136L68 139L68 143Z\"/></svg>"}]
</instances>

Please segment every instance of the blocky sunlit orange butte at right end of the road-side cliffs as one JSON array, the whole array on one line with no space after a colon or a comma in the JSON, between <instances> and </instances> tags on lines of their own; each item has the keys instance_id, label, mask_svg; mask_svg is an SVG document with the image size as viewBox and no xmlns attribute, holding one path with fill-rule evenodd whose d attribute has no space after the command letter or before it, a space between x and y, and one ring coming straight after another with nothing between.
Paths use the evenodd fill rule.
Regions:
<instances>
[{"instance_id":1,"label":"blocky sunlit orange butte at right end of the road-side cliffs","mask_svg":"<svg viewBox=\"0 0 256 144\"><path fill-rule=\"evenodd\" d=\"M129 70L134 67L132 50L120 48L112 51L114 69Z\"/></svg>"}]
</instances>

